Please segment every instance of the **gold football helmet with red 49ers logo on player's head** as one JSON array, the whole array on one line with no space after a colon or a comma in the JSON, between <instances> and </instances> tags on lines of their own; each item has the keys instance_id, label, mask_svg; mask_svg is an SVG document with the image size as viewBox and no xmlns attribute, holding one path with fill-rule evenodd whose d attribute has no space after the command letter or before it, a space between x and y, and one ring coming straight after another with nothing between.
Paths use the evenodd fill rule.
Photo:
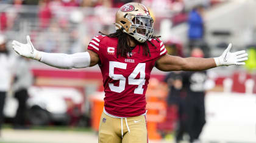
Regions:
<instances>
[{"instance_id":1,"label":"gold football helmet with red 49ers logo on player's head","mask_svg":"<svg viewBox=\"0 0 256 143\"><path fill-rule=\"evenodd\" d=\"M138 42L151 38L153 23L148 8L137 2L129 2L116 12L116 29L123 30Z\"/></svg>"}]
</instances>

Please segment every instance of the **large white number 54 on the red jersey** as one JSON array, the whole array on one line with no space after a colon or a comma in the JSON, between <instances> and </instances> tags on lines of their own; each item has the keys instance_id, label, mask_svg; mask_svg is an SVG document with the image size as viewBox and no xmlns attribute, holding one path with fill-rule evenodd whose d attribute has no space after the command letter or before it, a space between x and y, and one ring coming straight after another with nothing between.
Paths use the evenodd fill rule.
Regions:
<instances>
[{"instance_id":1,"label":"large white number 54 on the red jersey","mask_svg":"<svg viewBox=\"0 0 256 143\"><path fill-rule=\"evenodd\" d=\"M126 88L126 78L123 75L115 74L114 69L115 68L121 68L126 69L127 64L123 62L109 62L109 77L113 80L119 80L119 86L115 86L112 83L108 83L108 86L111 91L115 91L117 93L121 93ZM132 71L130 76L128 77L128 84L129 85L138 85L137 88L135 88L134 93L135 94L143 94L144 89L142 86L145 84L145 67L146 63L139 63L135 69ZM140 79L135 79L137 75L140 73Z\"/></svg>"}]
</instances>

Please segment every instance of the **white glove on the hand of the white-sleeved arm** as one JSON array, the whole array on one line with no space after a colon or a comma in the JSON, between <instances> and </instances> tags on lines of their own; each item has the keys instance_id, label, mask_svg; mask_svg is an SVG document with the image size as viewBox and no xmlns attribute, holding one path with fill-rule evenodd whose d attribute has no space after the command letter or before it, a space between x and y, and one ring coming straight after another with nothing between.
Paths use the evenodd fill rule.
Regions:
<instances>
[{"instance_id":1,"label":"white glove on the hand of the white-sleeved arm","mask_svg":"<svg viewBox=\"0 0 256 143\"><path fill-rule=\"evenodd\" d=\"M37 61L40 61L41 54L36 50L30 41L29 35L27 35L27 44L22 44L18 41L13 40L12 41L12 48L15 50L16 53L18 53L21 56L24 56L26 58L30 59L36 59Z\"/></svg>"}]
</instances>

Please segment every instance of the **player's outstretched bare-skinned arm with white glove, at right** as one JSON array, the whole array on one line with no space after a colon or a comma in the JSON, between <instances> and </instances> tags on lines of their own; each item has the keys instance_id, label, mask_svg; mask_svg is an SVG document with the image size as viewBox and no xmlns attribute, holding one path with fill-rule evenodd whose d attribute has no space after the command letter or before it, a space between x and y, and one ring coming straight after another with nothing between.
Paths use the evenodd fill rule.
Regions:
<instances>
[{"instance_id":1,"label":"player's outstretched bare-skinned arm with white glove, at right","mask_svg":"<svg viewBox=\"0 0 256 143\"><path fill-rule=\"evenodd\" d=\"M207 70L222 65L244 65L247 60L247 53L242 50L230 53L232 44L218 58L180 58L177 56L165 55L156 62L156 67L162 71L174 70Z\"/></svg>"}]
</instances>

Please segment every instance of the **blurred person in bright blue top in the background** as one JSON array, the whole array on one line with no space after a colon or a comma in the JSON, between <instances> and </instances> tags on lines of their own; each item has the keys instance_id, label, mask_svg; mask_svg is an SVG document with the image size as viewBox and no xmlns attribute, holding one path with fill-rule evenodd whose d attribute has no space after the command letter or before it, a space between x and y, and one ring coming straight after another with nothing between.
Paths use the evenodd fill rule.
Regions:
<instances>
[{"instance_id":1,"label":"blurred person in bright blue top in the background","mask_svg":"<svg viewBox=\"0 0 256 143\"><path fill-rule=\"evenodd\" d=\"M196 5L188 15L188 39L190 50L204 40L204 7Z\"/></svg>"}]
</instances>

